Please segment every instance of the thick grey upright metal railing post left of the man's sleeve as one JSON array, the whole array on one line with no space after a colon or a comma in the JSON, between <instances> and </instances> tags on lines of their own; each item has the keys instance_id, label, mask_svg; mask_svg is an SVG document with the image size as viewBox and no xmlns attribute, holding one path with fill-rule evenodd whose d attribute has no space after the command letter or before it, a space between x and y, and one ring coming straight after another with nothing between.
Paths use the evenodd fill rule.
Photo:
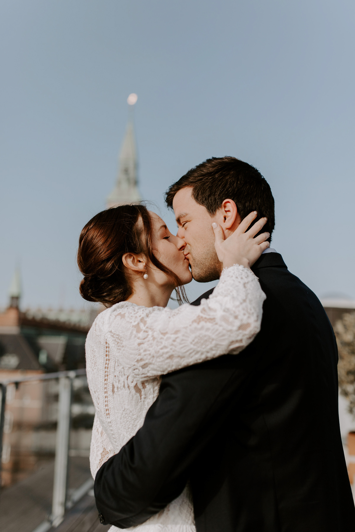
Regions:
<instances>
[{"instance_id":1,"label":"thick grey upright metal railing post left of the man's sleeve","mask_svg":"<svg viewBox=\"0 0 355 532\"><path fill-rule=\"evenodd\" d=\"M67 496L71 389L72 379L60 377L51 519L54 527L60 525L64 519L65 498Z\"/></svg>"}]
</instances>

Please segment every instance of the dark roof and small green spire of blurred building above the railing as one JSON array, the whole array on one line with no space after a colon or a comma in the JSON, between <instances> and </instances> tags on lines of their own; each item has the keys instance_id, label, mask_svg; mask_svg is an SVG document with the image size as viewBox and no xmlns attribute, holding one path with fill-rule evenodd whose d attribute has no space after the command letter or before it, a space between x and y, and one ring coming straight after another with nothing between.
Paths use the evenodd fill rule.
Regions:
<instances>
[{"instance_id":1,"label":"dark roof and small green spire of blurred building above the railing","mask_svg":"<svg viewBox=\"0 0 355 532\"><path fill-rule=\"evenodd\" d=\"M20 310L20 273L14 273L10 302L0 313L0 377L6 370L58 371L85 368L85 339L96 309Z\"/></svg>"}]
</instances>

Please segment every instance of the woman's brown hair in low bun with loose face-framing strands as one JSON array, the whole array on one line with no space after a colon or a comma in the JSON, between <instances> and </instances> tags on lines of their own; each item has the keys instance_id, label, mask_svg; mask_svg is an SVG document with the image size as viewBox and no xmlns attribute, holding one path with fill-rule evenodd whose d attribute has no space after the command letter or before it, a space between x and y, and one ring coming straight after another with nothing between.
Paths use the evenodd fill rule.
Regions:
<instances>
[{"instance_id":1,"label":"woman's brown hair in low bun with loose face-framing strands","mask_svg":"<svg viewBox=\"0 0 355 532\"><path fill-rule=\"evenodd\" d=\"M105 306L126 301L133 294L133 286L125 273L122 255L143 253L171 279L179 303L187 301L179 277L154 255L152 233L153 222L144 205L120 205L96 214L79 238L77 260L84 275L81 296Z\"/></svg>"}]
</instances>

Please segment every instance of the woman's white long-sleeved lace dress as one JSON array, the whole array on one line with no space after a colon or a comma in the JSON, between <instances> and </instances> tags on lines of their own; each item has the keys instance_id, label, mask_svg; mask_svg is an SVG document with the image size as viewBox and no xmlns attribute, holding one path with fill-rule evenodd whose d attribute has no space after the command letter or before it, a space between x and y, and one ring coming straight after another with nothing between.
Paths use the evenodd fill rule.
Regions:
<instances>
[{"instance_id":1,"label":"woman's white long-sleeved lace dress","mask_svg":"<svg viewBox=\"0 0 355 532\"><path fill-rule=\"evenodd\" d=\"M200 306L172 310L126 301L97 316L86 340L87 378L96 409L90 447L94 478L142 427L158 396L160 376L242 351L260 330L264 300L257 277L234 265L222 271L213 294ZM159 514L127 530L194 532L188 487Z\"/></svg>"}]
</instances>

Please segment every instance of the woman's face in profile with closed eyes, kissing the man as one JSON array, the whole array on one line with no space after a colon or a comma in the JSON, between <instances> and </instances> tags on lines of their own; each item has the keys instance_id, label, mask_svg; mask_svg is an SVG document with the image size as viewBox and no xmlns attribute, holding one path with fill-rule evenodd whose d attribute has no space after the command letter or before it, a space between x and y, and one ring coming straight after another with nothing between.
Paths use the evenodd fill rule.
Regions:
<instances>
[{"instance_id":1,"label":"woman's face in profile with closed eyes, kissing the man","mask_svg":"<svg viewBox=\"0 0 355 532\"><path fill-rule=\"evenodd\" d=\"M172 235L167 228L166 223L150 211L153 222L152 245L153 252L156 258L164 264L169 270L174 272L183 285L192 281L191 271L189 270L189 262L184 255L185 242L181 238ZM159 284L166 284L167 276L160 270L156 270L153 265L150 268L154 269L154 277Z\"/></svg>"}]
</instances>

